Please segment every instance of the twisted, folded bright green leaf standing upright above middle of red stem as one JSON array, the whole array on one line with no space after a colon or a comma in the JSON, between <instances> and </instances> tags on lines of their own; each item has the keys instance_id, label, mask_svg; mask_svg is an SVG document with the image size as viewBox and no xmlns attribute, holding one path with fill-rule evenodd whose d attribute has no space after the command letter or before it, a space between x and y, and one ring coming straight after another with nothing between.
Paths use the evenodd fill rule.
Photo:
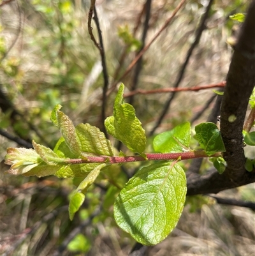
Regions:
<instances>
[{"instance_id":1,"label":"twisted, folded bright green leaf standing upright above middle of red stem","mask_svg":"<svg viewBox=\"0 0 255 256\"><path fill-rule=\"evenodd\" d=\"M107 132L120 140L131 151L145 156L146 146L145 130L135 116L135 109L128 103L123 103L124 84L120 84L119 92L115 98L113 116L105 120Z\"/></svg>"}]
</instances>

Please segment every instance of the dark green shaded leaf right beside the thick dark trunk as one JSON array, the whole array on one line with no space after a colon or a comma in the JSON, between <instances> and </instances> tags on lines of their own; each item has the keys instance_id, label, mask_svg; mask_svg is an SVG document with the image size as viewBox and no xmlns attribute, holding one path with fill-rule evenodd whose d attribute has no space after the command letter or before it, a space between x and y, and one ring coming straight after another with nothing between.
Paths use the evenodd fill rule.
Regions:
<instances>
[{"instance_id":1,"label":"dark green shaded leaf right beside the thick dark trunk","mask_svg":"<svg viewBox=\"0 0 255 256\"><path fill-rule=\"evenodd\" d=\"M198 140L200 146L205 150L208 156L217 152L226 151L221 132L214 123L201 123L195 127L196 140Z\"/></svg>"}]
</instances>

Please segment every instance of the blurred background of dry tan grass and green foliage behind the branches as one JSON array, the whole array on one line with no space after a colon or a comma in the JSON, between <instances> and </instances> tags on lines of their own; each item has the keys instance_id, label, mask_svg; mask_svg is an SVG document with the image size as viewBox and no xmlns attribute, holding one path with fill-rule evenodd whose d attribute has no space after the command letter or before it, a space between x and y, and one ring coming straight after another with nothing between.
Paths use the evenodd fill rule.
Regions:
<instances>
[{"instance_id":1,"label":"blurred background of dry tan grass and green foliage behind the branches","mask_svg":"<svg viewBox=\"0 0 255 256\"><path fill-rule=\"evenodd\" d=\"M8 3L5 3L8 2ZM27 142L54 147L60 135L50 113L60 103L73 123L103 127L103 73L98 49L87 30L90 1L1 1L1 130ZM242 0L214 1L207 29L193 52L182 87L225 80L235 35L233 13L245 12ZM179 1L152 1L146 42L170 17ZM140 49L144 22L142 0L96 2L110 85L126 70ZM143 56L138 88L171 87L207 6L207 0L187 1L170 26ZM142 19L139 19L142 17ZM97 37L96 26L93 33ZM137 27L137 29L135 29ZM134 33L135 31L135 33ZM132 87L133 73L122 79ZM178 93L156 133L191 121L214 93ZM112 115L115 91L108 95L106 116ZM169 94L135 96L133 105L147 133L152 130ZM4 100L3 100L4 99ZM206 121L213 104L193 124ZM1 136L1 160L17 143ZM150 141L150 139L149 139ZM196 144L194 144L195 146ZM115 146L118 146L117 144ZM124 150L124 149L123 149ZM148 145L147 152L152 148ZM183 163L188 169L190 162ZM10 176L1 163L0 253L3 255L128 255L135 241L113 220L113 202L139 163L113 166L89 188L75 220L68 219L68 195L81 179ZM210 169L205 161L201 171ZM254 201L250 184L219 193ZM94 218L89 218L98 209ZM210 197L189 197L177 228L147 255L255 255L255 220L251 209L215 204ZM69 239L69 240L68 240ZM4 254L5 253L5 254Z\"/></svg>"}]
</instances>

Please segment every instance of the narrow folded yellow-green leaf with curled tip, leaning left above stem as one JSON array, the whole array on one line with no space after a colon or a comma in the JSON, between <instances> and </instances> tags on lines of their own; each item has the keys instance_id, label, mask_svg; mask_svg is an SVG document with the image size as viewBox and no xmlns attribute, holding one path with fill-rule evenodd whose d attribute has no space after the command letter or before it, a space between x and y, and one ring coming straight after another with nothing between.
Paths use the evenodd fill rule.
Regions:
<instances>
[{"instance_id":1,"label":"narrow folded yellow-green leaf with curled tip, leaning left above stem","mask_svg":"<svg viewBox=\"0 0 255 256\"><path fill-rule=\"evenodd\" d=\"M61 105L56 105L51 114L51 121L57 126L66 141L70 151L75 156L80 156L80 144L78 143L77 134L73 122L63 112L59 111Z\"/></svg>"}]
</instances>

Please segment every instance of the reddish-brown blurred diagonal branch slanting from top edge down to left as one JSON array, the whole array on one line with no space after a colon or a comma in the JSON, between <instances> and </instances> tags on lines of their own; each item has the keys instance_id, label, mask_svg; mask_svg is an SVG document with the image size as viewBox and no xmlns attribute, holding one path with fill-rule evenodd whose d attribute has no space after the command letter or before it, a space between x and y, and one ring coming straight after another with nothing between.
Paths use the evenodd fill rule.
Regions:
<instances>
[{"instance_id":1,"label":"reddish-brown blurred diagonal branch slanting from top edge down to left","mask_svg":"<svg viewBox=\"0 0 255 256\"><path fill-rule=\"evenodd\" d=\"M135 66L135 64L137 63L138 59L140 59L140 57L143 56L143 54L145 54L145 52L149 49L150 45L152 45L152 43L159 37L159 35L164 31L164 29L166 29L166 27L168 27L168 25L170 24L170 22L173 20L173 18L175 17L175 15L177 14L177 12L180 10L180 8L182 8L182 6L184 5L184 3L186 2L186 0L182 0L180 1L180 3L178 4L178 6L175 8L175 10L173 10L173 13L171 14L171 17L169 17L166 22L164 22L164 25L161 27L161 29L159 29L159 31L154 35L154 37L152 38L152 40L149 41L149 43L147 43L147 45L145 45L145 47L143 48L143 50L141 50L141 52L135 57L135 59L133 59L133 61L129 64L128 68L126 69L126 71L122 74L122 76L117 80L117 82L115 82L115 84L113 84L112 87L110 87L110 90L108 91L108 94L112 93L112 91L115 89L115 87L117 86L117 84L124 78L126 77L126 75L128 75L129 72L131 72L133 66Z\"/></svg>"}]
</instances>

